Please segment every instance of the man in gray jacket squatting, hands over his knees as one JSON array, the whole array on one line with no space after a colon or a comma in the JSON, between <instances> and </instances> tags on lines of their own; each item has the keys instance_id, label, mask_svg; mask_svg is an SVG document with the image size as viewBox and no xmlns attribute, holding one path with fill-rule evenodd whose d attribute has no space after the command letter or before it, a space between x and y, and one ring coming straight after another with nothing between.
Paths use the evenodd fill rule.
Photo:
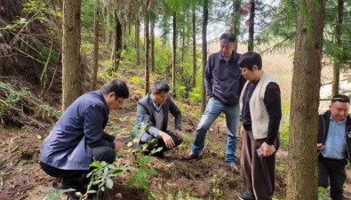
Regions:
<instances>
[{"instance_id":1,"label":"man in gray jacket squatting, hands over his knees","mask_svg":"<svg viewBox=\"0 0 351 200\"><path fill-rule=\"evenodd\" d=\"M153 156L164 156L164 151L179 146L181 138L181 113L170 95L170 86L164 80L156 81L143 99L138 101L135 127L145 130L140 135L140 144L148 144L146 154L162 148ZM168 113L174 116L174 130L167 130Z\"/></svg>"}]
</instances>

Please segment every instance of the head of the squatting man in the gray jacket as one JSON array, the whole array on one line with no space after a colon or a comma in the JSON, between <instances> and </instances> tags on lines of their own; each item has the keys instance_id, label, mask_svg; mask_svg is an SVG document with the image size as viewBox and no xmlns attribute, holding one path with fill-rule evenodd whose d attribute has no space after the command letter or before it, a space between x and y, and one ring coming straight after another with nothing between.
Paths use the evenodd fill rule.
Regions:
<instances>
[{"instance_id":1,"label":"head of the squatting man in the gray jacket","mask_svg":"<svg viewBox=\"0 0 351 200\"><path fill-rule=\"evenodd\" d=\"M151 88L152 99L157 105L164 103L167 100L170 92L170 86L164 80L157 80Z\"/></svg>"}]
</instances>

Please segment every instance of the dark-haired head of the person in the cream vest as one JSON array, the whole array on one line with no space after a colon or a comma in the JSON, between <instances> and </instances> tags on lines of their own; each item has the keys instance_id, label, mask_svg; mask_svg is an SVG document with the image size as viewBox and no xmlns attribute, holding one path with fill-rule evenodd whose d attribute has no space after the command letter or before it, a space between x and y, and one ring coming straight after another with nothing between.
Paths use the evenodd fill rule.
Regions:
<instances>
[{"instance_id":1,"label":"dark-haired head of the person in the cream vest","mask_svg":"<svg viewBox=\"0 0 351 200\"><path fill-rule=\"evenodd\" d=\"M243 77L248 81L256 81L261 76L262 58L257 52L245 52L238 61Z\"/></svg>"}]
</instances>

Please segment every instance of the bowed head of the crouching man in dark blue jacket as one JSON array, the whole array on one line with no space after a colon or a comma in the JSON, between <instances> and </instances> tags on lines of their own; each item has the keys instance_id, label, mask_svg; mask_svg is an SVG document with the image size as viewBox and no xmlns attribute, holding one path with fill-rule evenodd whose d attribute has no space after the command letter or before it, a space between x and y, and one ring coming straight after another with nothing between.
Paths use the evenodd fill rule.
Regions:
<instances>
[{"instance_id":1,"label":"bowed head of the crouching man in dark blue jacket","mask_svg":"<svg viewBox=\"0 0 351 200\"><path fill-rule=\"evenodd\" d=\"M119 108L129 98L129 89L124 81L116 78L105 84L101 91L110 110Z\"/></svg>"}]
</instances>

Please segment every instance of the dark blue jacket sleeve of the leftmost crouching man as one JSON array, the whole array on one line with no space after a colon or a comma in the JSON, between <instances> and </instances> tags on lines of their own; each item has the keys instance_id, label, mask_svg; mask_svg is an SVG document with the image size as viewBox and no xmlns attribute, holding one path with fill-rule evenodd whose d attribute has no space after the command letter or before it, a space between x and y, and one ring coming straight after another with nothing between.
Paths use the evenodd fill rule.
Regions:
<instances>
[{"instance_id":1,"label":"dark blue jacket sleeve of the leftmost crouching man","mask_svg":"<svg viewBox=\"0 0 351 200\"><path fill-rule=\"evenodd\" d=\"M100 107L100 105L90 105L84 110L84 136L90 148L115 148L113 141L104 140L104 117L104 108Z\"/></svg>"}]
</instances>

